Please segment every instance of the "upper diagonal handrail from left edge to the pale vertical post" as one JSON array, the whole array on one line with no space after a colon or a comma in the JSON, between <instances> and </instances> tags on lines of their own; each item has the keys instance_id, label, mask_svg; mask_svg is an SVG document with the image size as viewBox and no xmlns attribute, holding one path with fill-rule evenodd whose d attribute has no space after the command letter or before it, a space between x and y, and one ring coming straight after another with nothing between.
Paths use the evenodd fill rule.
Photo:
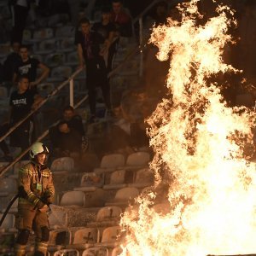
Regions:
<instances>
[{"instance_id":1,"label":"upper diagonal handrail from left edge to the pale vertical post","mask_svg":"<svg viewBox=\"0 0 256 256\"><path fill-rule=\"evenodd\" d=\"M26 121L26 119L28 119L30 116L32 116L33 113L35 113L36 111L38 111L39 108L41 108L45 102L47 102L49 100L49 97L51 96L55 96L55 94L61 90L71 79L73 79L74 77L76 77L81 71L83 70L83 68L79 68L77 71L75 71L70 77L69 79L67 79L66 81L64 81L63 83L61 83L55 90L53 90L42 102L40 102L38 104L38 107L33 109L30 113L28 113L23 119L20 119L19 122L17 122L14 126L12 126L11 128L9 128L9 131L7 131L2 137L0 137L0 142L3 141L3 139L5 139L6 137L9 136L10 133L12 133L13 131L15 131L15 129L20 126L24 121Z\"/></svg>"}]
</instances>

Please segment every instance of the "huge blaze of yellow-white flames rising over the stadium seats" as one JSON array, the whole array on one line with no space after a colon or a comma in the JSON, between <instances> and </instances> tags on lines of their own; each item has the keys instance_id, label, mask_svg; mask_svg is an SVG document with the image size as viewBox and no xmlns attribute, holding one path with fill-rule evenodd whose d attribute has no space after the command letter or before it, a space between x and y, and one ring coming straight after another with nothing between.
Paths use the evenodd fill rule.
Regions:
<instances>
[{"instance_id":1,"label":"huge blaze of yellow-white flames rising over the stadium seats","mask_svg":"<svg viewBox=\"0 0 256 256\"><path fill-rule=\"evenodd\" d=\"M222 84L208 80L240 72L222 59L236 22L227 17L228 7L219 6L218 15L200 25L197 2L180 5L182 21L170 18L150 39L160 60L171 59L166 86L172 99L163 99L147 120L154 187L168 185L171 211L154 211L156 192L141 195L138 210L121 220L128 230L122 255L256 253L255 166L243 156L253 144L253 114L228 108Z\"/></svg>"}]
</instances>

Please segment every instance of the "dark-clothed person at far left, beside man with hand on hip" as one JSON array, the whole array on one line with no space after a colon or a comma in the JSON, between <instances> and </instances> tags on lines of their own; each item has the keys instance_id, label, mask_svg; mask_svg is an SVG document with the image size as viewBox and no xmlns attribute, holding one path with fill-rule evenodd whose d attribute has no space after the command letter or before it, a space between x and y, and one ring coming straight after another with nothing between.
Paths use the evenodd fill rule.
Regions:
<instances>
[{"instance_id":1,"label":"dark-clothed person at far left, beside man with hand on hip","mask_svg":"<svg viewBox=\"0 0 256 256\"><path fill-rule=\"evenodd\" d=\"M17 67L20 62L20 43L13 42L11 44L12 52L7 56L6 60L3 62L3 81L12 82L15 67Z\"/></svg>"}]
</instances>

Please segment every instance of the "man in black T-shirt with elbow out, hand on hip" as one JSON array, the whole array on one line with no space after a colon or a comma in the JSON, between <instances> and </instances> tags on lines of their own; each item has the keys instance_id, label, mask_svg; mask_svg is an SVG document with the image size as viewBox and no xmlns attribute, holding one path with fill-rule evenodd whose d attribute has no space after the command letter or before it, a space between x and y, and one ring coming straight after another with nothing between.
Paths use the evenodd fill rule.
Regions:
<instances>
[{"instance_id":1,"label":"man in black T-shirt with elbow out, hand on hip","mask_svg":"<svg viewBox=\"0 0 256 256\"><path fill-rule=\"evenodd\" d=\"M49 67L46 67L43 63L28 55L28 47L26 45L20 46L20 61L15 67L15 74L13 81L15 82L18 76L26 75L30 81L30 89L36 89L49 75ZM37 76L37 69L41 68L43 72Z\"/></svg>"}]
</instances>

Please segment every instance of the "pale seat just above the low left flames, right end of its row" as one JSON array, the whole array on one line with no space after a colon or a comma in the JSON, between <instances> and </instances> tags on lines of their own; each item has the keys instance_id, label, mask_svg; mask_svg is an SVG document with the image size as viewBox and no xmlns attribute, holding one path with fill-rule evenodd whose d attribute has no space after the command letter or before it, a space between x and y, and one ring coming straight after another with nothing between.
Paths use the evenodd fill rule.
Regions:
<instances>
[{"instance_id":1,"label":"pale seat just above the low left flames, right end of its row","mask_svg":"<svg viewBox=\"0 0 256 256\"><path fill-rule=\"evenodd\" d=\"M139 195L139 191L137 188L124 188L119 189L113 201L108 201L106 206L125 206L129 203L133 203L134 199Z\"/></svg>"}]
</instances>

